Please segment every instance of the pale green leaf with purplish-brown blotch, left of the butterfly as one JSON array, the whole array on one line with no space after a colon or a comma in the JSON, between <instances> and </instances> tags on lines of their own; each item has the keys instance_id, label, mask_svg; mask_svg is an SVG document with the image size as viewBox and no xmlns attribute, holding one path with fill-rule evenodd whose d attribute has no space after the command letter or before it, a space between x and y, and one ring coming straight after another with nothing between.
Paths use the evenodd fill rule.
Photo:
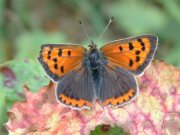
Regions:
<instances>
[{"instance_id":1,"label":"pale green leaf with purplish-brown blotch, left of the butterfly","mask_svg":"<svg viewBox=\"0 0 180 135\"><path fill-rule=\"evenodd\" d=\"M40 64L34 60L9 61L0 67L0 92L6 95L10 104L23 99L24 85L32 91L37 91L48 81Z\"/></svg>"}]
</instances>

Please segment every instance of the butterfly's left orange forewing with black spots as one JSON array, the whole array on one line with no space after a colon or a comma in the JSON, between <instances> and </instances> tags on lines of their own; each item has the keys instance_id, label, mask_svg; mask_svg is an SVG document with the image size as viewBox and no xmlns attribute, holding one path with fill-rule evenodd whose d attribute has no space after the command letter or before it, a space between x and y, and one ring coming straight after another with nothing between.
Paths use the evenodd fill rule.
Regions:
<instances>
[{"instance_id":1,"label":"butterfly's left orange forewing with black spots","mask_svg":"<svg viewBox=\"0 0 180 135\"><path fill-rule=\"evenodd\" d=\"M42 46L39 59L50 77L59 78L80 68L85 53L86 49L79 45L47 44Z\"/></svg>"}]
</instances>

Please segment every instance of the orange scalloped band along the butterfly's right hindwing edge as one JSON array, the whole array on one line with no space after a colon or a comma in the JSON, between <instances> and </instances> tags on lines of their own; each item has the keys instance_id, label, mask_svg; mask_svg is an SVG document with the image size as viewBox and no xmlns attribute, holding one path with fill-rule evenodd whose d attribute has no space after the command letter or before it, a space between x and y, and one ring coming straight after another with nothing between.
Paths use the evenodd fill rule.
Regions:
<instances>
[{"instance_id":1,"label":"orange scalloped band along the butterfly's right hindwing edge","mask_svg":"<svg viewBox=\"0 0 180 135\"><path fill-rule=\"evenodd\" d=\"M119 96L117 98L106 99L103 102L103 105L104 106L108 106L108 105L117 106L117 105L123 104L124 102L129 101L133 96L134 96L134 90L130 89L123 96Z\"/></svg>"}]
</instances>

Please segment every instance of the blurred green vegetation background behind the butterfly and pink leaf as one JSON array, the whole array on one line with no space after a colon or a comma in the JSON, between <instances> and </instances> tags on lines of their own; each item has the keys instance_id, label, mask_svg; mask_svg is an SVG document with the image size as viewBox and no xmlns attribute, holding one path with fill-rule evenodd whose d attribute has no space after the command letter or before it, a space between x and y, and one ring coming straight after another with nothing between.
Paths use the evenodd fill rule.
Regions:
<instances>
[{"instance_id":1,"label":"blurred green vegetation background behind the butterfly and pink leaf","mask_svg":"<svg viewBox=\"0 0 180 135\"><path fill-rule=\"evenodd\" d=\"M112 16L103 39L96 41ZM155 57L180 67L179 0L0 0L0 64L5 63L0 69L0 133L7 134L2 126L7 110L24 98L22 86L37 91L48 82L36 61L41 44L88 45L79 20L99 47L119 38L155 34ZM16 81L11 87L4 82L7 76Z\"/></svg>"}]
</instances>

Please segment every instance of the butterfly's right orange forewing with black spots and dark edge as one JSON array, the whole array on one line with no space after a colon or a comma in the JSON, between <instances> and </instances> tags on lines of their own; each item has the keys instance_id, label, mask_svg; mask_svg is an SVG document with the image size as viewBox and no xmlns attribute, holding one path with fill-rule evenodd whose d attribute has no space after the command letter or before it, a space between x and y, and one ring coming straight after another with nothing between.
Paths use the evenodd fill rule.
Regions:
<instances>
[{"instance_id":1,"label":"butterfly's right orange forewing with black spots and dark edge","mask_svg":"<svg viewBox=\"0 0 180 135\"><path fill-rule=\"evenodd\" d=\"M101 48L111 67L122 67L140 74L151 61L157 46L155 36L132 37L110 42Z\"/></svg>"}]
</instances>

